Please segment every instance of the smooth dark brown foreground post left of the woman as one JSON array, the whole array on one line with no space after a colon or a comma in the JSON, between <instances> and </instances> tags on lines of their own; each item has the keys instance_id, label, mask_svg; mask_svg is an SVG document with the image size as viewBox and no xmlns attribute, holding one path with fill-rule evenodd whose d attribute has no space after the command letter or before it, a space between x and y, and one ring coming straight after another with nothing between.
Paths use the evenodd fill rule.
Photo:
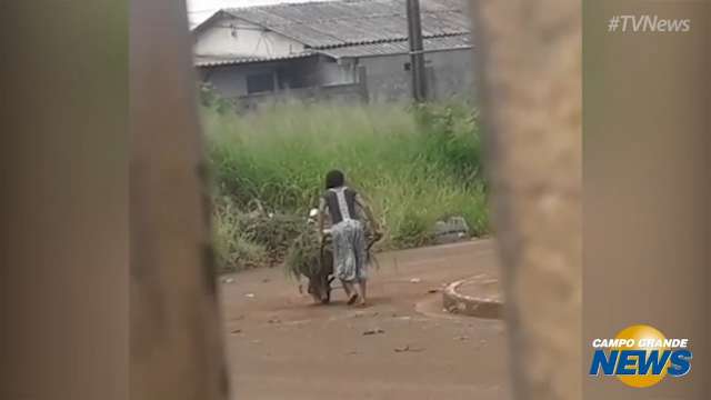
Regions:
<instances>
[{"instance_id":1,"label":"smooth dark brown foreground post left of the woman","mask_svg":"<svg viewBox=\"0 0 711 400\"><path fill-rule=\"evenodd\" d=\"M228 398L184 3L131 2L131 399Z\"/></svg>"}]
</instances>

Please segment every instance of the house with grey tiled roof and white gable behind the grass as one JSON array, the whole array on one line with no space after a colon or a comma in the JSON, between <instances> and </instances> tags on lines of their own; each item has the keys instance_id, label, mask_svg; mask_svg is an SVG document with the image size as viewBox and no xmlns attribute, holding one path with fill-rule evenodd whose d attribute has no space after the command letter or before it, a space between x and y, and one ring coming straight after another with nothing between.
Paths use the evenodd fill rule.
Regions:
<instances>
[{"instance_id":1,"label":"house with grey tiled roof and white gable behind the grass","mask_svg":"<svg viewBox=\"0 0 711 400\"><path fill-rule=\"evenodd\" d=\"M461 0L421 0L429 92L470 94L473 52ZM193 28L204 82L236 99L290 93L362 101L410 94L405 0L223 9Z\"/></svg>"}]
</instances>

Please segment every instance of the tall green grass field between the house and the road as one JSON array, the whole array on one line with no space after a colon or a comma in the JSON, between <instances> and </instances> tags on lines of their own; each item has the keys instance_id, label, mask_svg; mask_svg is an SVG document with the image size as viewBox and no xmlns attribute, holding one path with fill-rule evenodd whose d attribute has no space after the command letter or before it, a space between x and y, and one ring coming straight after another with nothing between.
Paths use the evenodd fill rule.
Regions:
<instances>
[{"instance_id":1,"label":"tall green grass field between the house and the road","mask_svg":"<svg viewBox=\"0 0 711 400\"><path fill-rule=\"evenodd\" d=\"M428 244L434 222L451 216L464 217L473 234L488 231L480 129L463 103L293 103L243 116L204 107L202 114L224 268L263 263L273 240L289 240L279 224L264 234L246 216L259 206L282 226L298 220L318 204L333 168L370 200L387 248Z\"/></svg>"}]
</instances>

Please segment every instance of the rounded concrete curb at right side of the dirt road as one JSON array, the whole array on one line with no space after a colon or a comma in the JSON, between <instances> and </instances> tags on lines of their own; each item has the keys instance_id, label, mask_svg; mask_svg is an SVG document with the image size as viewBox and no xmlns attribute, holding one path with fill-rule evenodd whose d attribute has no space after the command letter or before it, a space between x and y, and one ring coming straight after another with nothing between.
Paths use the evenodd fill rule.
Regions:
<instances>
[{"instance_id":1,"label":"rounded concrete curb at right side of the dirt road","mask_svg":"<svg viewBox=\"0 0 711 400\"><path fill-rule=\"evenodd\" d=\"M497 279L487 274L452 282L442 292L444 309L455 314L500 319L503 301L498 283ZM462 290L474 294L464 294Z\"/></svg>"}]
</instances>

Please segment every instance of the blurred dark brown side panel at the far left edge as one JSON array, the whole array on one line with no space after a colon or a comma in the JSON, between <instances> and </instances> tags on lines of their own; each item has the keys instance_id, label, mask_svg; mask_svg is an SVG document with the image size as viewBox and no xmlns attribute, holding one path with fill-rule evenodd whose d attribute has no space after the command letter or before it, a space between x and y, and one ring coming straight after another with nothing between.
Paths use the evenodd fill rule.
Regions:
<instances>
[{"instance_id":1,"label":"blurred dark brown side panel at the far left edge","mask_svg":"<svg viewBox=\"0 0 711 400\"><path fill-rule=\"evenodd\" d=\"M128 8L6 1L0 399L128 398Z\"/></svg>"}]
</instances>

